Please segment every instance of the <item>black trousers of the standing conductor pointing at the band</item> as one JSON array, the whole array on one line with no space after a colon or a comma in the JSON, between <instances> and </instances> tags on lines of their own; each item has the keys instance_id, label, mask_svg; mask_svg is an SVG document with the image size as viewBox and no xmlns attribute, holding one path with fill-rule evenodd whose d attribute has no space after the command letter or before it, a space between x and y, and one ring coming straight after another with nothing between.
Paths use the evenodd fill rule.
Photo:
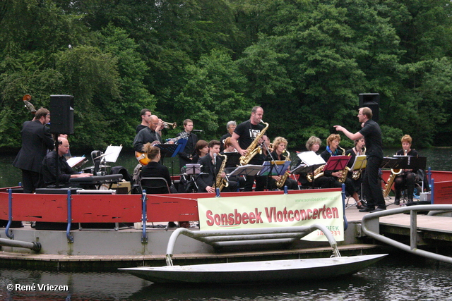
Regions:
<instances>
[{"instance_id":1,"label":"black trousers of the standing conductor pointing at the band","mask_svg":"<svg viewBox=\"0 0 452 301\"><path fill-rule=\"evenodd\" d=\"M366 171L362 178L362 190L366 197L367 207L374 209L376 206L385 209L383 191L381 190L381 182L379 178L379 168L383 158L376 156L367 157Z\"/></svg>"}]
</instances>

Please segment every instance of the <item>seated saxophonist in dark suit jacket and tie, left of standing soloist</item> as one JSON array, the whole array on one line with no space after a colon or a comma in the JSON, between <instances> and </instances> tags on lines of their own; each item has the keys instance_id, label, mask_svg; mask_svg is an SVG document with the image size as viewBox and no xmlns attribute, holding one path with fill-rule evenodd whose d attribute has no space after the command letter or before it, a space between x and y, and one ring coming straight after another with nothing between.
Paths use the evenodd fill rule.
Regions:
<instances>
[{"instance_id":1,"label":"seated saxophonist in dark suit jacket and tie, left of standing soloist","mask_svg":"<svg viewBox=\"0 0 452 301\"><path fill-rule=\"evenodd\" d=\"M209 152L206 156L199 159L198 163L202 165L201 174L196 178L198 192L215 192L215 182L220 173L221 178L226 178L224 171L220 171L223 157L220 154L220 141L211 140L208 144ZM235 181L228 180L227 187L222 191L237 191L239 184Z\"/></svg>"}]
</instances>

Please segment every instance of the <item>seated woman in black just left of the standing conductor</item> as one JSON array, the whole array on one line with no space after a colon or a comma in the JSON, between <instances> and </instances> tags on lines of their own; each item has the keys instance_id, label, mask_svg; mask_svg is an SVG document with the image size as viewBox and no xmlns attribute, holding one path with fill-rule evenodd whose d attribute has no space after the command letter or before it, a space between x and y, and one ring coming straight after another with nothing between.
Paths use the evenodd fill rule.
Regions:
<instances>
[{"instance_id":1,"label":"seated woman in black just left of the standing conductor","mask_svg":"<svg viewBox=\"0 0 452 301\"><path fill-rule=\"evenodd\" d=\"M323 160L328 162L331 156L340 156L345 153L345 150L339 147L339 142L340 135L338 134L331 134L326 138L326 149L320 154ZM343 171L323 171L323 176L317 177L314 180L314 185L321 188L340 188L343 183L339 179L342 179L343 183L345 183L345 191L355 199L358 209L364 209L364 206L359 201L359 196L355 190L353 181L347 177L343 179Z\"/></svg>"}]
</instances>

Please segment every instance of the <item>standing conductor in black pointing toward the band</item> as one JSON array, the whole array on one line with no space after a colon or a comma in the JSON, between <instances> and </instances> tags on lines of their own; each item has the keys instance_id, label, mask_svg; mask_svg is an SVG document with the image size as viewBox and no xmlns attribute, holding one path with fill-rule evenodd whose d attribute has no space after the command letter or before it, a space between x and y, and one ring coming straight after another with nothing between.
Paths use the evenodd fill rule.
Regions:
<instances>
[{"instance_id":1,"label":"standing conductor in black pointing toward the band","mask_svg":"<svg viewBox=\"0 0 452 301\"><path fill-rule=\"evenodd\" d=\"M382 211L386 209L386 202L381 190L379 180L379 168L383 161L383 141L381 140L380 125L372 120L372 110L365 106L358 111L359 123L364 123L362 129L357 133L350 133L340 125L334 125L334 128L343 132L349 139L357 140L364 137L366 143L367 166L362 178L364 196L367 200L367 206L360 212ZM375 208L377 206L377 208Z\"/></svg>"}]
</instances>

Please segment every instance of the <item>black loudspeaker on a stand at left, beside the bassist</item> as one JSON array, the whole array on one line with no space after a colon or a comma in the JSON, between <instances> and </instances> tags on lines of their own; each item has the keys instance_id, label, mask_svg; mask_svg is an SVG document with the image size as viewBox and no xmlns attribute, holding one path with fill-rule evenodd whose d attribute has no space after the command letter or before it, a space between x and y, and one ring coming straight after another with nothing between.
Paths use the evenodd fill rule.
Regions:
<instances>
[{"instance_id":1,"label":"black loudspeaker on a stand at left, beside the bassist","mask_svg":"<svg viewBox=\"0 0 452 301\"><path fill-rule=\"evenodd\" d=\"M50 133L73 134L73 96L50 95Z\"/></svg>"}]
</instances>

